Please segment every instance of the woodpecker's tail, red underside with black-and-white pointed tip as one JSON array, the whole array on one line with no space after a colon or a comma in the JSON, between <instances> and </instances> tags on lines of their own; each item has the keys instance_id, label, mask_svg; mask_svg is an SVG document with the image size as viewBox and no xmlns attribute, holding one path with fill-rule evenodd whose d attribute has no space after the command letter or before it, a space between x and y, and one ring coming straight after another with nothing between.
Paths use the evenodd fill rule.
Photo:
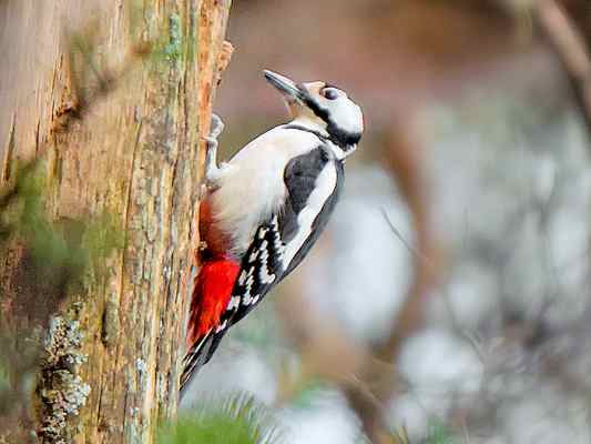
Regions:
<instances>
[{"instance_id":1,"label":"woodpecker's tail, red underside with black-and-white pointed tip","mask_svg":"<svg viewBox=\"0 0 591 444\"><path fill-rule=\"evenodd\" d=\"M211 260L202 265L193 280L181 394L218 343L215 330L227 307L238 272L240 263L232 259Z\"/></svg>"}]
</instances>

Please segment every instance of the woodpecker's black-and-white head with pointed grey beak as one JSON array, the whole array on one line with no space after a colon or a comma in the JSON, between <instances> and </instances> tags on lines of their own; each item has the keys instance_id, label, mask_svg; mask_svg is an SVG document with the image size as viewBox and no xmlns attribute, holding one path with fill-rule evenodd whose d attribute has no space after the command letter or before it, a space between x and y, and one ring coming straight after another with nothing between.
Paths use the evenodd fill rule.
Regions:
<instances>
[{"instance_id":1,"label":"woodpecker's black-and-white head with pointed grey beak","mask_svg":"<svg viewBox=\"0 0 591 444\"><path fill-rule=\"evenodd\" d=\"M296 83L272 71L265 71L265 79L283 94L296 123L329 138L344 154L355 150L364 131L364 115L345 91L320 81Z\"/></svg>"}]
</instances>

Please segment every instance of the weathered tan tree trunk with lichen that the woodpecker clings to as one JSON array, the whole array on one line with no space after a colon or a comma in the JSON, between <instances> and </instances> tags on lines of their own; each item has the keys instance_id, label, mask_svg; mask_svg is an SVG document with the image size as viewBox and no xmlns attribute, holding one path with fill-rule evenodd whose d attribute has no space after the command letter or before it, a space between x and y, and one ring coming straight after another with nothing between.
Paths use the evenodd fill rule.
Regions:
<instances>
[{"instance_id":1,"label":"weathered tan tree trunk with lichen that the woodpecker clings to","mask_svg":"<svg viewBox=\"0 0 591 444\"><path fill-rule=\"evenodd\" d=\"M2 195L22 190L14 184L34 165L51 226L78 235L91 265L81 284L54 285L31 272L39 245L9 235L0 250L0 326L19 333L16 354L47 327L28 392L34 414L18 420L32 441L151 443L156 421L175 414L200 147L227 62L228 9L230 0L0 2ZM120 239L104 260L93 233ZM24 435L0 428L0 442Z\"/></svg>"}]
</instances>

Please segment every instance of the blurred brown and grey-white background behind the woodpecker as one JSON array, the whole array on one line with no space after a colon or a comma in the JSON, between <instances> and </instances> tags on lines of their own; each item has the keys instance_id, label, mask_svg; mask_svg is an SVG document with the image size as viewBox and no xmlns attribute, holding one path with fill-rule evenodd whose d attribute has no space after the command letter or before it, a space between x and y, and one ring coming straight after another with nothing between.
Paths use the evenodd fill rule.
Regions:
<instances>
[{"instance_id":1,"label":"blurred brown and grey-white background behind the woodpecker","mask_svg":"<svg viewBox=\"0 0 591 444\"><path fill-rule=\"evenodd\" d=\"M263 69L342 87L366 132L185 407L252 393L289 444L590 443L590 30L585 1L234 0L223 155L286 119Z\"/></svg>"}]
</instances>

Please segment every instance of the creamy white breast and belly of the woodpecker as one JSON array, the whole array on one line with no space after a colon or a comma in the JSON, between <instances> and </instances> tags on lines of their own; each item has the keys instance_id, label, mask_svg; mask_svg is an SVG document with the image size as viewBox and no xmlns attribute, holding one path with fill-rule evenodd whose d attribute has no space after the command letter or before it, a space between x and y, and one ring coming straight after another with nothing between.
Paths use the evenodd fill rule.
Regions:
<instances>
[{"instance_id":1,"label":"creamy white breast and belly of the woodpecker","mask_svg":"<svg viewBox=\"0 0 591 444\"><path fill-rule=\"evenodd\" d=\"M306 131L276 127L244 147L227 164L212 194L214 223L232 239L232 252L243 254L261 222L283 204L284 170L293 158L318 147Z\"/></svg>"}]
</instances>

